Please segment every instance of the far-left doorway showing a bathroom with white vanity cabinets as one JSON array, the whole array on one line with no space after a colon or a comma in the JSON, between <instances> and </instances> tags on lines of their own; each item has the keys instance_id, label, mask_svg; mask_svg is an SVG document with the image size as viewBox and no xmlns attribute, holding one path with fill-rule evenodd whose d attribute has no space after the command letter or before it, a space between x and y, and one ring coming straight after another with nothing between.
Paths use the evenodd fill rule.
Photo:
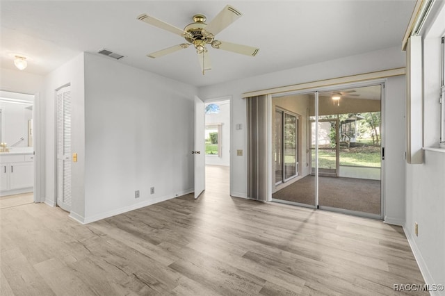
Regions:
<instances>
[{"instance_id":1,"label":"far-left doorway showing a bathroom with white vanity cabinets","mask_svg":"<svg viewBox=\"0 0 445 296\"><path fill-rule=\"evenodd\" d=\"M35 96L0 91L0 208L35 202Z\"/></svg>"}]
</instances>

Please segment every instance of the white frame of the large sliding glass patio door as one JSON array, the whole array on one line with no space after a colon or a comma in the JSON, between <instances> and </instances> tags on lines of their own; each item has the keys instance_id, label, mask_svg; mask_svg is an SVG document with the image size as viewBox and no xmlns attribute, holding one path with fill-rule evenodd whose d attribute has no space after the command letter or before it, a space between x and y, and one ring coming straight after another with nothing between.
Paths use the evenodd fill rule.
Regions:
<instances>
[{"instance_id":1,"label":"white frame of the large sliding glass patio door","mask_svg":"<svg viewBox=\"0 0 445 296\"><path fill-rule=\"evenodd\" d=\"M369 80L369 81L359 81L359 82L352 82L352 83L341 83L341 84L334 84L334 85L327 85L327 86L322 86L322 87L318 87L318 88L309 88L309 89L305 89L305 90L296 90L296 91L291 91L291 92L278 92L275 94L270 94L270 96L268 96L268 105L271 106L271 100L273 97L283 97L283 96L287 96L287 95L291 95L291 94L316 94L316 99L315 99L315 114L318 115L318 93L319 92L328 92L328 91L335 91L335 90L339 90L341 88L360 88L360 87L366 87L366 86L372 86L372 85L381 85L381 93L380 93L380 113L381 113L381 118L382 118L382 126L380 129L380 156L383 156L382 152L385 149L385 142L386 142L386 92L387 92L387 85L388 83L388 79L387 78L383 78L383 79L373 79L373 80ZM268 112L268 126L269 126L269 130L268 130L268 158L270 158L270 163L272 161L272 148L271 148L271 139L272 139L272 131L271 131L271 126L272 126L272 112L275 112L275 110L271 110L271 108L269 108L269 112ZM318 116L316 116L316 134L318 134ZM338 134L337 134L338 137ZM337 145L338 146L338 145ZM316 161L318 162L318 141L316 141ZM346 209L342 209L342 208L331 208L331 207L326 207L326 206L318 206L318 165L316 165L316 178L315 178L315 183L316 183L316 188L315 188L315 192L316 192L316 206L315 208L320 208L322 210L326 210L326 211L332 211L332 212L337 212L337 213L344 213L344 214L348 214L348 215L355 215L357 217L368 217L371 219L376 219L376 220L384 220L385 218L385 158L381 157L380 158L380 215L377 214L371 214L371 213L364 213L364 212L357 212L357 211L350 211L350 210L346 210ZM272 172L273 170L270 168L268 170L268 179L272 179L273 174L275 174L275 170L274 172ZM275 201L276 199L274 199ZM269 190L268 192L268 201L272 201L272 192ZM305 207L309 207L309 208L314 208L314 206L312 205L305 205L305 204L297 204L297 203L293 203L293 202L284 202L284 204L295 204L297 206L305 206Z\"/></svg>"}]
</instances>

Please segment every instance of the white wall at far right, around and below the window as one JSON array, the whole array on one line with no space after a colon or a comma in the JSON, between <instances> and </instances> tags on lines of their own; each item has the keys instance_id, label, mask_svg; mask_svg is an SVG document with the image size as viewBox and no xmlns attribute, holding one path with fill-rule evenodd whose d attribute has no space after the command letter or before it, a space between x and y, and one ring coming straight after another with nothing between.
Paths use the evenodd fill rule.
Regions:
<instances>
[{"instance_id":1,"label":"white wall at far right, around and below the window","mask_svg":"<svg viewBox=\"0 0 445 296\"><path fill-rule=\"evenodd\" d=\"M439 2L437 2L439 3ZM437 4L436 3L436 4ZM439 142L440 38L445 35L445 5L432 10L423 35L423 143ZM406 168L405 233L426 282L445 283L445 149L424 151L423 163ZM419 224L419 236L414 223ZM432 292L431 295L445 295Z\"/></svg>"}]
</instances>

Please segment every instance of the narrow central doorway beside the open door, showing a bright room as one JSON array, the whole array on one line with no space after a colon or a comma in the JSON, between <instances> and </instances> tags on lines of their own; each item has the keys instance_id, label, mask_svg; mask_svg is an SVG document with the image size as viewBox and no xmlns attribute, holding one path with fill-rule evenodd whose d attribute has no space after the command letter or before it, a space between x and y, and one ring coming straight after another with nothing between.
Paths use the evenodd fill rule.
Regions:
<instances>
[{"instance_id":1,"label":"narrow central doorway beside the open door, showing a bright room","mask_svg":"<svg viewBox=\"0 0 445 296\"><path fill-rule=\"evenodd\" d=\"M230 98L205 101L206 186L229 194L231 105Z\"/></svg>"}]
</instances>

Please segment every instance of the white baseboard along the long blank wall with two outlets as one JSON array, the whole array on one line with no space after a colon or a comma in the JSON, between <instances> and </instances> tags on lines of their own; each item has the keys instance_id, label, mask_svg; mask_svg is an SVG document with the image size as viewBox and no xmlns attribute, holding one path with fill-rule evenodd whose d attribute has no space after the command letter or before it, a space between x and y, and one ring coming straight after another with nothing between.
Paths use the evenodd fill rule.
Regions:
<instances>
[{"instance_id":1,"label":"white baseboard along the long blank wall with two outlets","mask_svg":"<svg viewBox=\"0 0 445 296\"><path fill-rule=\"evenodd\" d=\"M127 213L129 211L133 211L136 210L138 208L143 208L145 206L150 206L152 204L157 204L159 202L165 202L168 199L173 199L175 197L180 197L182 195L188 195L189 193L194 192L195 190L193 189L189 189L189 190L184 190L182 192L177 192L173 195L165 195L163 197L158 197L156 199L149 199L149 200L145 200L143 202L139 202L138 204L132 204L131 206L124 206L123 208L118 208L115 209L113 211L108 211L105 213L100 213L97 215L92 215L90 217L82 217L81 215L78 215L74 212L70 213L70 217L78 222L80 222L81 224L88 224L91 222L95 222L95 221L99 221L108 217L113 217L115 215L119 215L122 213Z\"/></svg>"}]
</instances>

